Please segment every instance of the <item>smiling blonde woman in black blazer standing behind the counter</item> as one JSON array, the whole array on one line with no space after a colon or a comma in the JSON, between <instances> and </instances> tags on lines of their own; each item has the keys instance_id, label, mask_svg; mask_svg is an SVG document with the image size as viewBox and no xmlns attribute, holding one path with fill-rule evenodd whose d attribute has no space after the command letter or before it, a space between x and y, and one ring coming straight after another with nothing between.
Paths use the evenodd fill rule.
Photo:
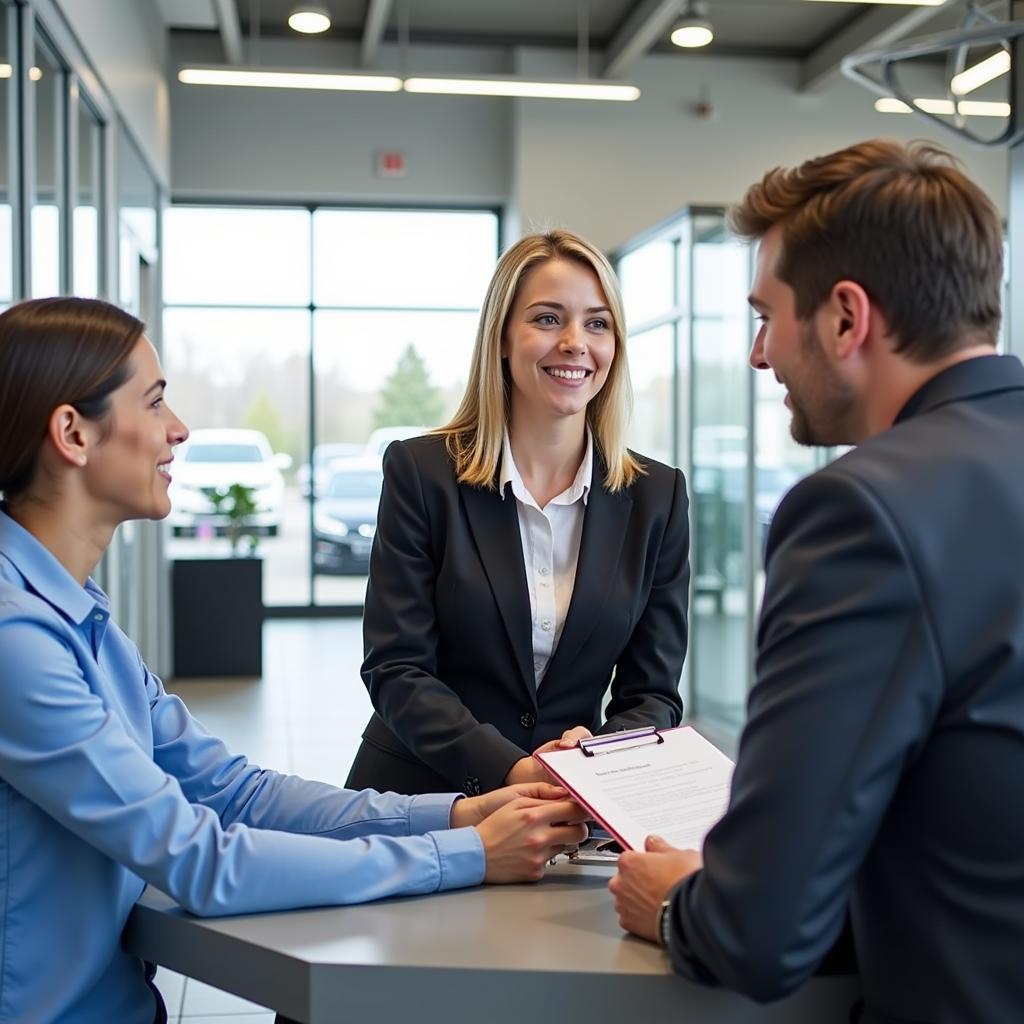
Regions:
<instances>
[{"instance_id":1,"label":"smiling blonde woman in black blazer standing behind the counter","mask_svg":"<svg viewBox=\"0 0 1024 1024\"><path fill-rule=\"evenodd\" d=\"M626 449L624 324L583 239L500 260L458 413L384 458L348 785L477 794L544 777L541 746L679 723L686 486Z\"/></svg>"}]
</instances>

